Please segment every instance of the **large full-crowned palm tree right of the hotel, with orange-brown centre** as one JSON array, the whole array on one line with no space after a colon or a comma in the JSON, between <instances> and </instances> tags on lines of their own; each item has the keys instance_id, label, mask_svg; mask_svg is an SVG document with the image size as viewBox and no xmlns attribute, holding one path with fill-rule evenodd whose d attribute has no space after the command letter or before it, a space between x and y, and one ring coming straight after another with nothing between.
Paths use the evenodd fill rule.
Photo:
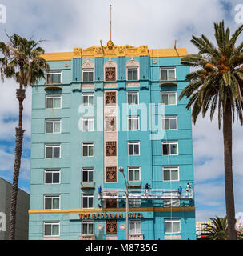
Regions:
<instances>
[{"instance_id":1,"label":"large full-crowned palm tree right of the hotel, with orange-brown centre","mask_svg":"<svg viewBox=\"0 0 243 256\"><path fill-rule=\"evenodd\" d=\"M217 47L205 37L193 36L191 42L197 46L198 54L189 54L181 59L181 63L192 66L196 70L186 76L189 85L182 90L179 99L186 96L189 102L186 108L193 106L193 123L198 114L205 117L210 109L212 121L215 110L218 112L218 126L223 121L224 158L225 158L225 205L229 223L229 239L236 240L235 207L233 196L232 170L232 122L242 117L243 94L243 42L236 46L237 38L243 30L240 26L230 37L230 30L225 30L224 21L214 23Z\"/></svg>"}]
</instances>

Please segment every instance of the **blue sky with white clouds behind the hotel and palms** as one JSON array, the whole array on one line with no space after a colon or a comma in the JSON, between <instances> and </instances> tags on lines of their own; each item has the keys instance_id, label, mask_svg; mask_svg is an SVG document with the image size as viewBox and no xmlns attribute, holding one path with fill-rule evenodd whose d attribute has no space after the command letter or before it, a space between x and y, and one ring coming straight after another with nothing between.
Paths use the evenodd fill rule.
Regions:
<instances>
[{"instance_id":1,"label":"blue sky with white clouds behind the hotel and palms","mask_svg":"<svg viewBox=\"0 0 243 256\"><path fill-rule=\"evenodd\" d=\"M110 39L110 4L113 6L112 40L115 45L148 45L149 49L197 49L192 35L205 34L213 43L213 22L225 20L233 32L241 24L236 20L237 4L223 0L0 0L6 6L6 23L0 23L0 41L8 34L20 34L34 40L45 39L46 52L72 51L103 45ZM237 16L240 18L241 15ZM243 16L242 16L243 17ZM241 34L239 42L242 42ZM0 177L12 182L14 135L18 124L17 85L12 80L0 82ZM30 192L30 123L31 89L24 101L24 134L22 169L19 187ZM240 124L233 124L233 178L236 212L243 212L243 136ZM205 221L225 216L224 159L222 130L217 114L199 117L193 125L193 160L196 219Z\"/></svg>"}]
</instances>

